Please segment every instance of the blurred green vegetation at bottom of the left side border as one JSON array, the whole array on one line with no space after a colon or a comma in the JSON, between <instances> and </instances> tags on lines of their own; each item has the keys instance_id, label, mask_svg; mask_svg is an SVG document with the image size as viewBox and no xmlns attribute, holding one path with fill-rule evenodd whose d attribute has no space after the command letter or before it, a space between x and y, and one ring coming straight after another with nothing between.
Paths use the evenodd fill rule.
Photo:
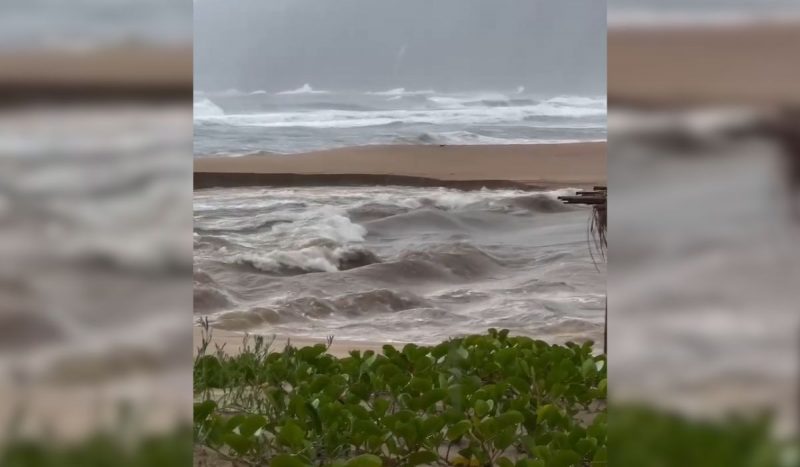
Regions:
<instances>
[{"instance_id":1,"label":"blurred green vegetation at bottom of the left side border","mask_svg":"<svg viewBox=\"0 0 800 467\"><path fill-rule=\"evenodd\" d=\"M97 433L81 442L17 438L0 447L0 465L4 467L172 467L191 463L188 426L130 443L113 433Z\"/></svg>"}]
</instances>

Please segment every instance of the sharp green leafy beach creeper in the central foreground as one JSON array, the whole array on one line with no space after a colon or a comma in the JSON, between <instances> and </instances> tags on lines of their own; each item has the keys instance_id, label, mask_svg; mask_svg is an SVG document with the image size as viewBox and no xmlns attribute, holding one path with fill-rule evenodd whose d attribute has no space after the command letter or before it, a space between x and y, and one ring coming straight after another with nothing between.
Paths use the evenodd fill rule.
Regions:
<instances>
[{"instance_id":1,"label":"sharp green leafy beach creeper in the central foreground","mask_svg":"<svg viewBox=\"0 0 800 467\"><path fill-rule=\"evenodd\" d=\"M592 344L508 331L345 358L328 346L194 365L195 442L238 465L605 466L606 365Z\"/></svg>"}]
</instances>

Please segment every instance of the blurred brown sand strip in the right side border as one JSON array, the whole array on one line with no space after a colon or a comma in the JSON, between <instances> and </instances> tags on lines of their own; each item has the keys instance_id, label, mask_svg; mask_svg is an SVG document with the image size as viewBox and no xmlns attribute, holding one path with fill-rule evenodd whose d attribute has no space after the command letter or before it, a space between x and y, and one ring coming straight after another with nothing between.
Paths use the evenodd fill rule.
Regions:
<instances>
[{"instance_id":1,"label":"blurred brown sand strip in the right side border","mask_svg":"<svg viewBox=\"0 0 800 467\"><path fill-rule=\"evenodd\" d=\"M797 24L617 27L608 99L633 106L797 105Z\"/></svg>"}]
</instances>

